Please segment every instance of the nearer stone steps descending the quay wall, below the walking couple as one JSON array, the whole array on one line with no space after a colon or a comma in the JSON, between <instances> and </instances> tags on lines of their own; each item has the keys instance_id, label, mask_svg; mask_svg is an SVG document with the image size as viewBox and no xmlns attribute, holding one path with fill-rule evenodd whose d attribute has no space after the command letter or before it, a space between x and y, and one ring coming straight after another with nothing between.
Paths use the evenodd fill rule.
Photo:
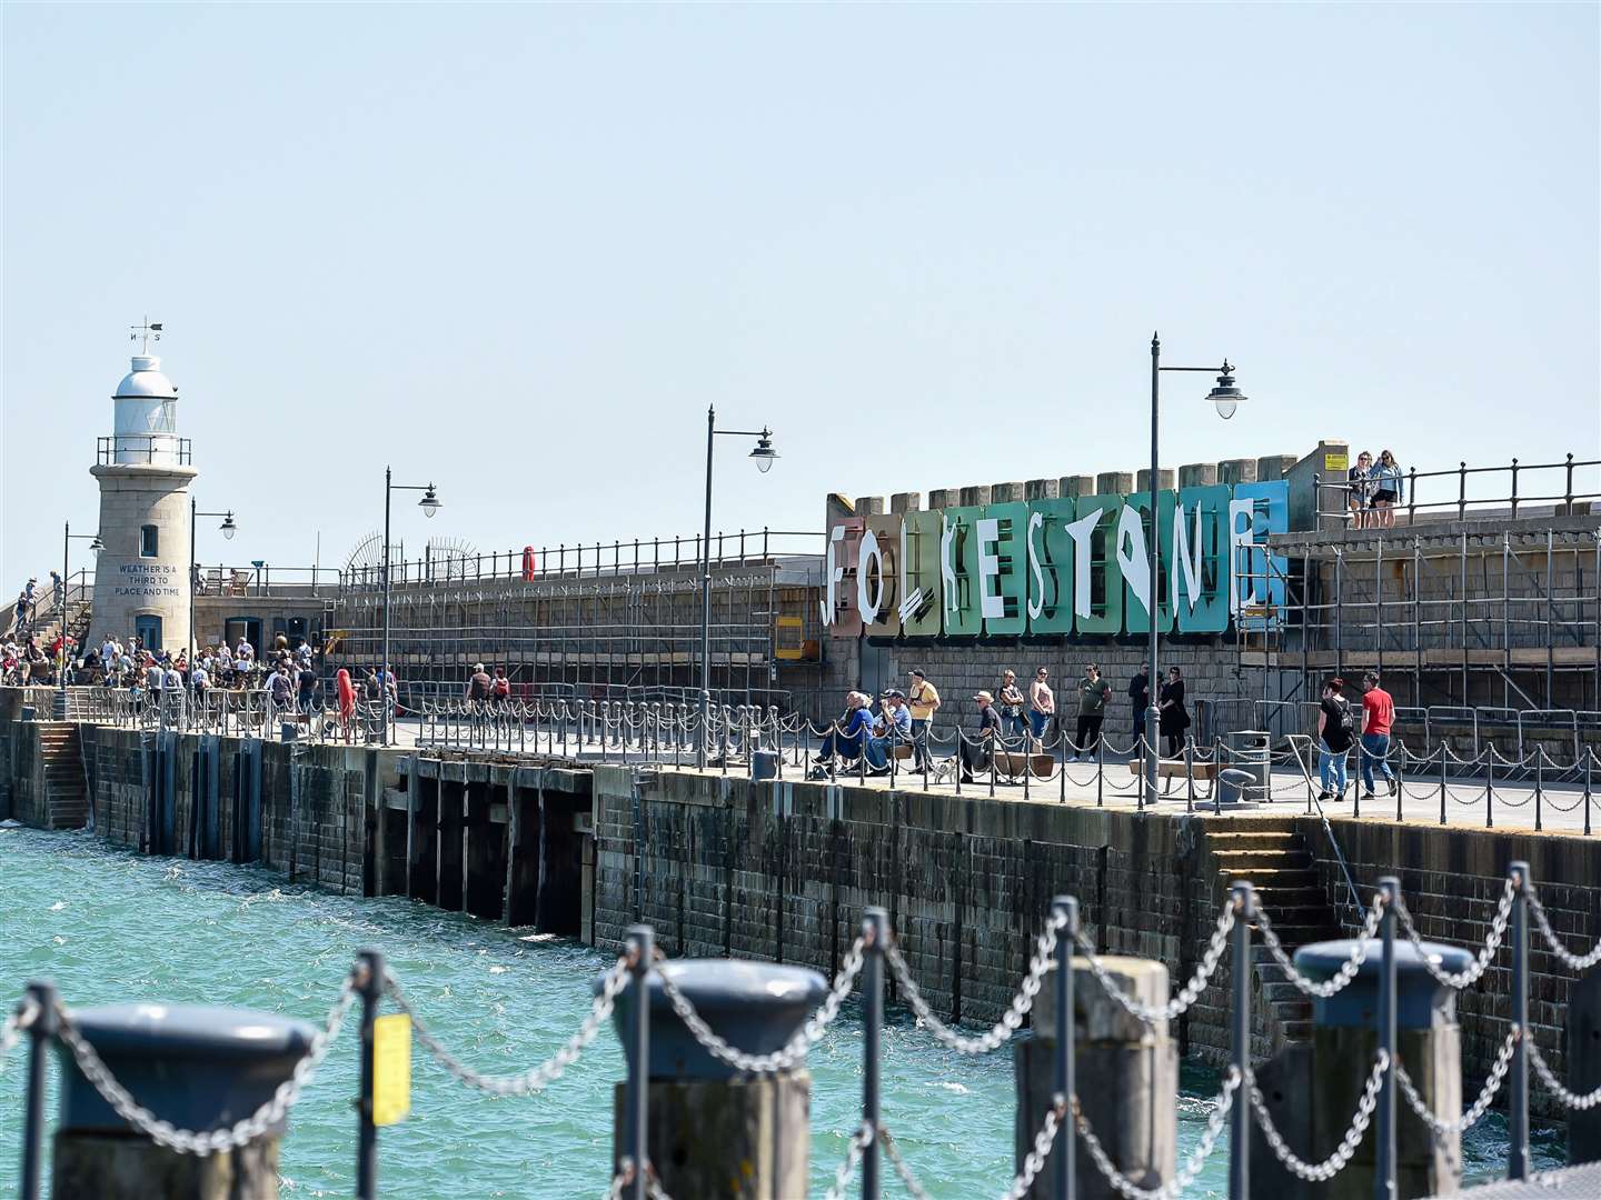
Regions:
<instances>
[{"instance_id":1,"label":"nearer stone steps descending the quay wall, below the walking couple","mask_svg":"<svg viewBox=\"0 0 1601 1200\"><path fill-rule=\"evenodd\" d=\"M1310 942L1343 936L1329 894L1318 875L1311 850L1300 834L1236 832L1207 838L1220 883L1234 880L1257 885L1257 902L1273 920L1284 949L1294 954ZM1255 963L1255 1003L1263 1006L1263 1024L1271 1050L1311 1038L1311 1000L1300 994L1284 968L1273 962L1260 938L1252 938Z\"/></svg>"}]
</instances>

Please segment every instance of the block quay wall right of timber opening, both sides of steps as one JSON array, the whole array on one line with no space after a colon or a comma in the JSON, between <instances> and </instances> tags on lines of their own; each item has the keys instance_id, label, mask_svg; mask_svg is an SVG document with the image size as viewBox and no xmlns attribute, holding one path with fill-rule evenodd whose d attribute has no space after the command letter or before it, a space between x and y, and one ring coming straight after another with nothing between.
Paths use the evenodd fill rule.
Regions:
<instances>
[{"instance_id":1,"label":"block quay wall right of timber opening, both sides of steps","mask_svg":"<svg viewBox=\"0 0 1601 1200\"><path fill-rule=\"evenodd\" d=\"M733 955L834 973L865 906L890 910L919 989L946 1018L999 1019L1028 966L1050 898L1079 898L1105 950L1162 962L1188 979L1226 894L1215 853L1250 834L1292 834L1346 931L1350 888L1318 819L1199 818L988 797L941 797L679 771L596 768L594 942L616 949L634 922L671 955ZM1425 938L1478 947L1500 878L1527 859L1556 928L1582 952L1601 939L1601 843L1579 837L1335 821L1366 899L1396 872ZM1247 835L1242 838L1241 835ZM1404 864L1396 870L1396 864ZM1571 880L1558 885L1555 880ZM1260 946L1260 938L1255 939ZM1566 1064L1574 978L1532 934L1531 1014L1556 1070ZM1463 1067L1483 1078L1510 1014L1510 950L1459 998ZM1231 963L1177 1022L1183 1053L1228 1058ZM1254 981L1254 1058L1282 1045ZM1555 1115L1543 1099L1540 1110Z\"/></svg>"}]
</instances>

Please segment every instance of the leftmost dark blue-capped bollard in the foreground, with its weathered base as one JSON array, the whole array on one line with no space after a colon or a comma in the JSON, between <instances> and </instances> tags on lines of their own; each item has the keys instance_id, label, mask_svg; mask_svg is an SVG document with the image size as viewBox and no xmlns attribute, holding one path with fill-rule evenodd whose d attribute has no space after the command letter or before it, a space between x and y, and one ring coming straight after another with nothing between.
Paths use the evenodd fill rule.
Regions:
<instances>
[{"instance_id":1,"label":"leftmost dark blue-capped bollard in the foreground, with its weathered base","mask_svg":"<svg viewBox=\"0 0 1601 1200\"><path fill-rule=\"evenodd\" d=\"M200 1005L107 1005L64 1019L134 1102L192 1133L227 1130L256 1114L311 1051L315 1032L272 1013ZM287 1117L239 1149L179 1154L123 1122L61 1038L58 1054L54 1200L275 1200Z\"/></svg>"}]
</instances>

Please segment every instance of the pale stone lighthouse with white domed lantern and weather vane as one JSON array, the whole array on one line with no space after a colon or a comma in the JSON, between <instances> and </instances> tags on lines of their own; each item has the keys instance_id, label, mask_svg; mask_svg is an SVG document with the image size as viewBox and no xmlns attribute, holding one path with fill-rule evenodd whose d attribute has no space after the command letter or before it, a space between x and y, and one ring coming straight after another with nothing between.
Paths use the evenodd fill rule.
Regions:
<instances>
[{"instance_id":1,"label":"pale stone lighthouse with white domed lantern and weather vane","mask_svg":"<svg viewBox=\"0 0 1601 1200\"><path fill-rule=\"evenodd\" d=\"M160 339L160 325L134 326ZM147 650L189 645L189 440L178 437L178 389L162 360L133 355L133 370L112 394L112 435L99 438L90 474L101 486L90 645L107 634L138 637Z\"/></svg>"}]
</instances>

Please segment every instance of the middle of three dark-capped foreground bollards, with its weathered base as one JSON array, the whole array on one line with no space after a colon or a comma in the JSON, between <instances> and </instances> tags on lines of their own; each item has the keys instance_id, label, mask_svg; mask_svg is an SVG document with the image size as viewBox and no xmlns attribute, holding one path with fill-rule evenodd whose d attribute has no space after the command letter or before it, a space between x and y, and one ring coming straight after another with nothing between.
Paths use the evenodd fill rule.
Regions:
<instances>
[{"instance_id":1,"label":"middle of three dark-capped foreground bollards, with its weathered base","mask_svg":"<svg viewBox=\"0 0 1601 1200\"><path fill-rule=\"evenodd\" d=\"M674 1011L668 986L709 1030L751 1056L783 1050L828 990L817 971L730 958L672 958L647 984L647 1054L636 1058L642 1014L632 987L613 1021L629 1078L648 1082L644 1142L661 1189L674 1197L789 1200L805 1195L810 1166L812 1078L804 1059L741 1074L708 1051ZM597 986L599 987L599 986ZM632 1157L631 1085L618 1085L616 1160Z\"/></svg>"}]
</instances>

